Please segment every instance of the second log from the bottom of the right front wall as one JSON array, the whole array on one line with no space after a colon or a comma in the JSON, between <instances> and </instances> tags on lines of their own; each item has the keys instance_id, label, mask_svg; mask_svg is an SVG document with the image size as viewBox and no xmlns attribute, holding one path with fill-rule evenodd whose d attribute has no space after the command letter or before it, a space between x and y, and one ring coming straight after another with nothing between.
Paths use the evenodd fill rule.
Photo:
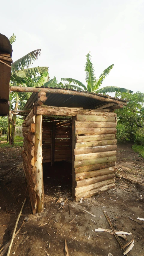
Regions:
<instances>
[{"instance_id":1,"label":"second log from the bottom of the right front wall","mask_svg":"<svg viewBox=\"0 0 144 256\"><path fill-rule=\"evenodd\" d=\"M115 179L107 179L107 180L104 180L104 181L101 181L101 182L98 182L98 183L95 183L95 184L91 184L91 185L88 185L88 186L75 188L75 195L78 195L78 194L81 194L81 193L84 193L84 192L88 192L88 191L91 191L95 188L100 188L100 187L106 186L106 185L114 183L114 182L115 182Z\"/></svg>"}]
</instances>

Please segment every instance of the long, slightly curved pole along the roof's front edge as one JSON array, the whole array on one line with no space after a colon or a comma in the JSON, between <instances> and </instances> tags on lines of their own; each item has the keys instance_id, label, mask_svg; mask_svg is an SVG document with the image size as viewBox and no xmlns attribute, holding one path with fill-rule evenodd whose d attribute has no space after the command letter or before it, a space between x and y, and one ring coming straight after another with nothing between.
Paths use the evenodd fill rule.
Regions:
<instances>
[{"instance_id":1,"label":"long, slightly curved pole along the roof's front edge","mask_svg":"<svg viewBox=\"0 0 144 256\"><path fill-rule=\"evenodd\" d=\"M85 92L76 92L76 91L71 91L71 90L61 90L61 89L51 89L51 88L34 88L34 87L24 87L24 86L10 86L10 91L11 92L46 92L46 93L51 93L51 94L62 94L62 95L76 95L76 96L81 96L81 97L86 97L86 98L92 98L95 100L103 101L103 102L112 102L115 104L124 104L127 106L126 102L123 101L118 101L112 98L104 98L95 94L90 94L90 93L85 93Z\"/></svg>"}]
</instances>

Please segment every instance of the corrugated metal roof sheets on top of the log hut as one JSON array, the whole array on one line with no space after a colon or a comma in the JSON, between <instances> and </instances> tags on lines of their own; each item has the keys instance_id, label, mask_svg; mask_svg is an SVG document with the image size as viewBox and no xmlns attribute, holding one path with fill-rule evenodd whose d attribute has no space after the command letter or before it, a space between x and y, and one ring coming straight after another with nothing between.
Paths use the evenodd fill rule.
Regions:
<instances>
[{"instance_id":1,"label":"corrugated metal roof sheets on top of the log hut","mask_svg":"<svg viewBox=\"0 0 144 256\"><path fill-rule=\"evenodd\" d=\"M64 89L64 88L59 88L59 87L44 87L41 86L41 88L50 88L50 89L60 89L60 90L70 90L70 91L75 91L75 92L85 92L86 94L93 94L100 96L102 98L111 98L117 101L122 102L127 102L124 99L119 99L119 98L114 98L109 95L104 95L101 93L94 93L94 92L88 92L88 91L76 91L73 89ZM44 105L48 106L54 106L54 107L83 107L84 109L96 109L100 108L104 105L109 104L115 105L115 103L107 102L107 101L100 101L97 99L93 98L87 98L83 97L80 95L64 95L64 94L52 94L52 93L47 93L46 94L47 100L45 101ZM38 99L38 93L32 93L31 97L27 101L24 109L31 109L33 106L33 103L35 103ZM104 100L104 99L103 99Z\"/></svg>"}]
</instances>

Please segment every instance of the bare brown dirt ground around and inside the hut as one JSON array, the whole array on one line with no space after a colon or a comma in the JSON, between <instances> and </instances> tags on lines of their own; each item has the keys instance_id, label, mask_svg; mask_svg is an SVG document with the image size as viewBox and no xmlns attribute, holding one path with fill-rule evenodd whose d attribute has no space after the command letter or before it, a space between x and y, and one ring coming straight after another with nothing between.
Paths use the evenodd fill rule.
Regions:
<instances>
[{"instance_id":1,"label":"bare brown dirt ground around and inside the hut","mask_svg":"<svg viewBox=\"0 0 144 256\"><path fill-rule=\"evenodd\" d=\"M56 163L52 168L45 164L44 212L32 215L22 172L21 151L21 147L0 148L0 248L10 240L22 203L27 197L17 227L21 226L25 216L28 217L20 230L20 233L26 233L16 236L10 255L66 255L64 239L70 256L123 255L113 235L95 232L98 227L110 229L103 210L107 211L115 230L132 233L127 238L130 241L134 237L134 248L128 255L144 255L144 221L137 220L137 217L144 218L144 185L116 179L116 188L76 203L71 198L70 164ZM9 170L12 167L15 168ZM118 145L117 169L130 179L144 182L144 159L131 149L130 143ZM9 171L6 173L6 170ZM62 209L61 203L65 200ZM120 240L123 245L128 242Z\"/></svg>"}]
</instances>

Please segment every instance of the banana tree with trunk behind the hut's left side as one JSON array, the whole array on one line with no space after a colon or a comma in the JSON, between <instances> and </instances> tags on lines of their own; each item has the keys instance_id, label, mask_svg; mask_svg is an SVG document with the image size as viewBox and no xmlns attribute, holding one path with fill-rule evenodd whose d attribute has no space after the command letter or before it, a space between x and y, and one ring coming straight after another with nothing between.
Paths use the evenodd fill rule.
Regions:
<instances>
[{"instance_id":1,"label":"banana tree with trunk behind the hut's left side","mask_svg":"<svg viewBox=\"0 0 144 256\"><path fill-rule=\"evenodd\" d=\"M10 43L13 44L16 40L16 36L13 34L9 39ZM48 67L35 67L29 68L30 65L33 64L35 60L38 59L38 56L41 55L41 49L34 50L22 58L16 60L11 65L11 77L10 77L10 85L11 86L25 86L25 87L37 87L42 86L49 80ZM14 110L18 110L22 108L23 103L30 97L30 93L18 93L15 95L12 94L13 107ZM8 137L9 143L14 143L14 134L15 134L15 124L16 124L16 115L11 117L11 108L9 108L9 116L8 116Z\"/></svg>"}]
</instances>

